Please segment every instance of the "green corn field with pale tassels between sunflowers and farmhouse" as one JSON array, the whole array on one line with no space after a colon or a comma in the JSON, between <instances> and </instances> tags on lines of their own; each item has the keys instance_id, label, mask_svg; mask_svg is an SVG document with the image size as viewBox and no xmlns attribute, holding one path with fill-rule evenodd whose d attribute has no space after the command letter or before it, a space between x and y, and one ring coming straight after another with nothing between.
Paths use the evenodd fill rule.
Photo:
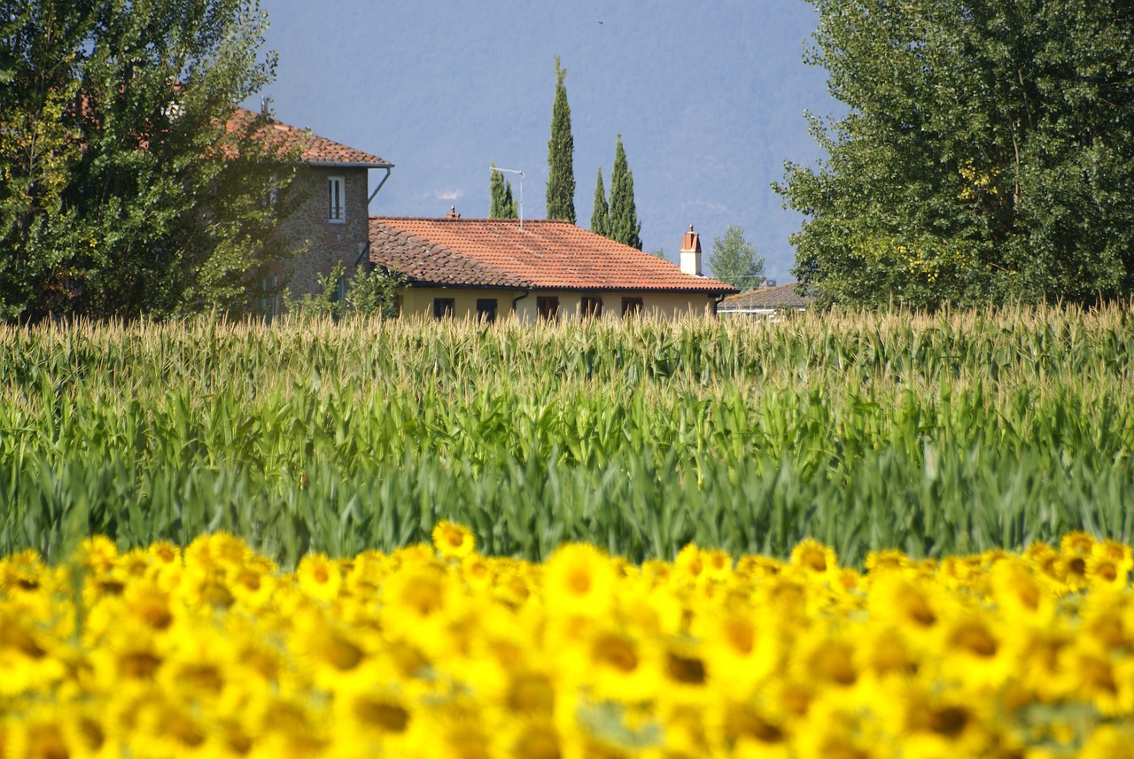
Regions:
<instances>
[{"instance_id":1,"label":"green corn field with pale tassels between sunflowers and farmhouse","mask_svg":"<svg viewBox=\"0 0 1134 759\"><path fill-rule=\"evenodd\" d=\"M1128 309L0 326L0 555L1134 540Z\"/></svg>"}]
</instances>

